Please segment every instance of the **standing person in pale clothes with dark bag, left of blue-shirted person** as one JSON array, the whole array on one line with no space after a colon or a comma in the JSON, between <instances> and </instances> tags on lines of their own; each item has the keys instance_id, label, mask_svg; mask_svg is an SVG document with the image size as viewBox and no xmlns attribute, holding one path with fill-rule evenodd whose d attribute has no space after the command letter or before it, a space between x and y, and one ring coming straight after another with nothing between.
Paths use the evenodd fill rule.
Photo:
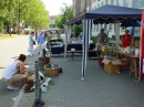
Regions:
<instances>
[{"instance_id":1,"label":"standing person in pale clothes with dark bag, left of blue-shirted person","mask_svg":"<svg viewBox=\"0 0 144 107\"><path fill-rule=\"evenodd\" d=\"M34 32L32 31L31 32L31 35L29 36L29 52L30 52L30 56L34 55L34 52L33 52L33 45L35 44L35 41L34 41Z\"/></svg>"}]
</instances>

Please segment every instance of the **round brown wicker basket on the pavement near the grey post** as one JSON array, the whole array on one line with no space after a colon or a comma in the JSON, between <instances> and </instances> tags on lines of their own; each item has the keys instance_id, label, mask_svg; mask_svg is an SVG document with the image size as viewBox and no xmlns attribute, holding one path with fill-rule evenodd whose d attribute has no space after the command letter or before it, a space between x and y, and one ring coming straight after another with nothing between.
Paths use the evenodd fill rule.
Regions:
<instances>
[{"instance_id":1,"label":"round brown wicker basket on the pavement near the grey post","mask_svg":"<svg viewBox=\"0 0 144 107\"><path fill-rule=\"evenodd\" d=\"M45 66L44 66L44 69L47 72L48 76L53 77L53 76L58 76L59 75L59 67L58 68L45 68Z\"/></svg>"}]
</instances>

